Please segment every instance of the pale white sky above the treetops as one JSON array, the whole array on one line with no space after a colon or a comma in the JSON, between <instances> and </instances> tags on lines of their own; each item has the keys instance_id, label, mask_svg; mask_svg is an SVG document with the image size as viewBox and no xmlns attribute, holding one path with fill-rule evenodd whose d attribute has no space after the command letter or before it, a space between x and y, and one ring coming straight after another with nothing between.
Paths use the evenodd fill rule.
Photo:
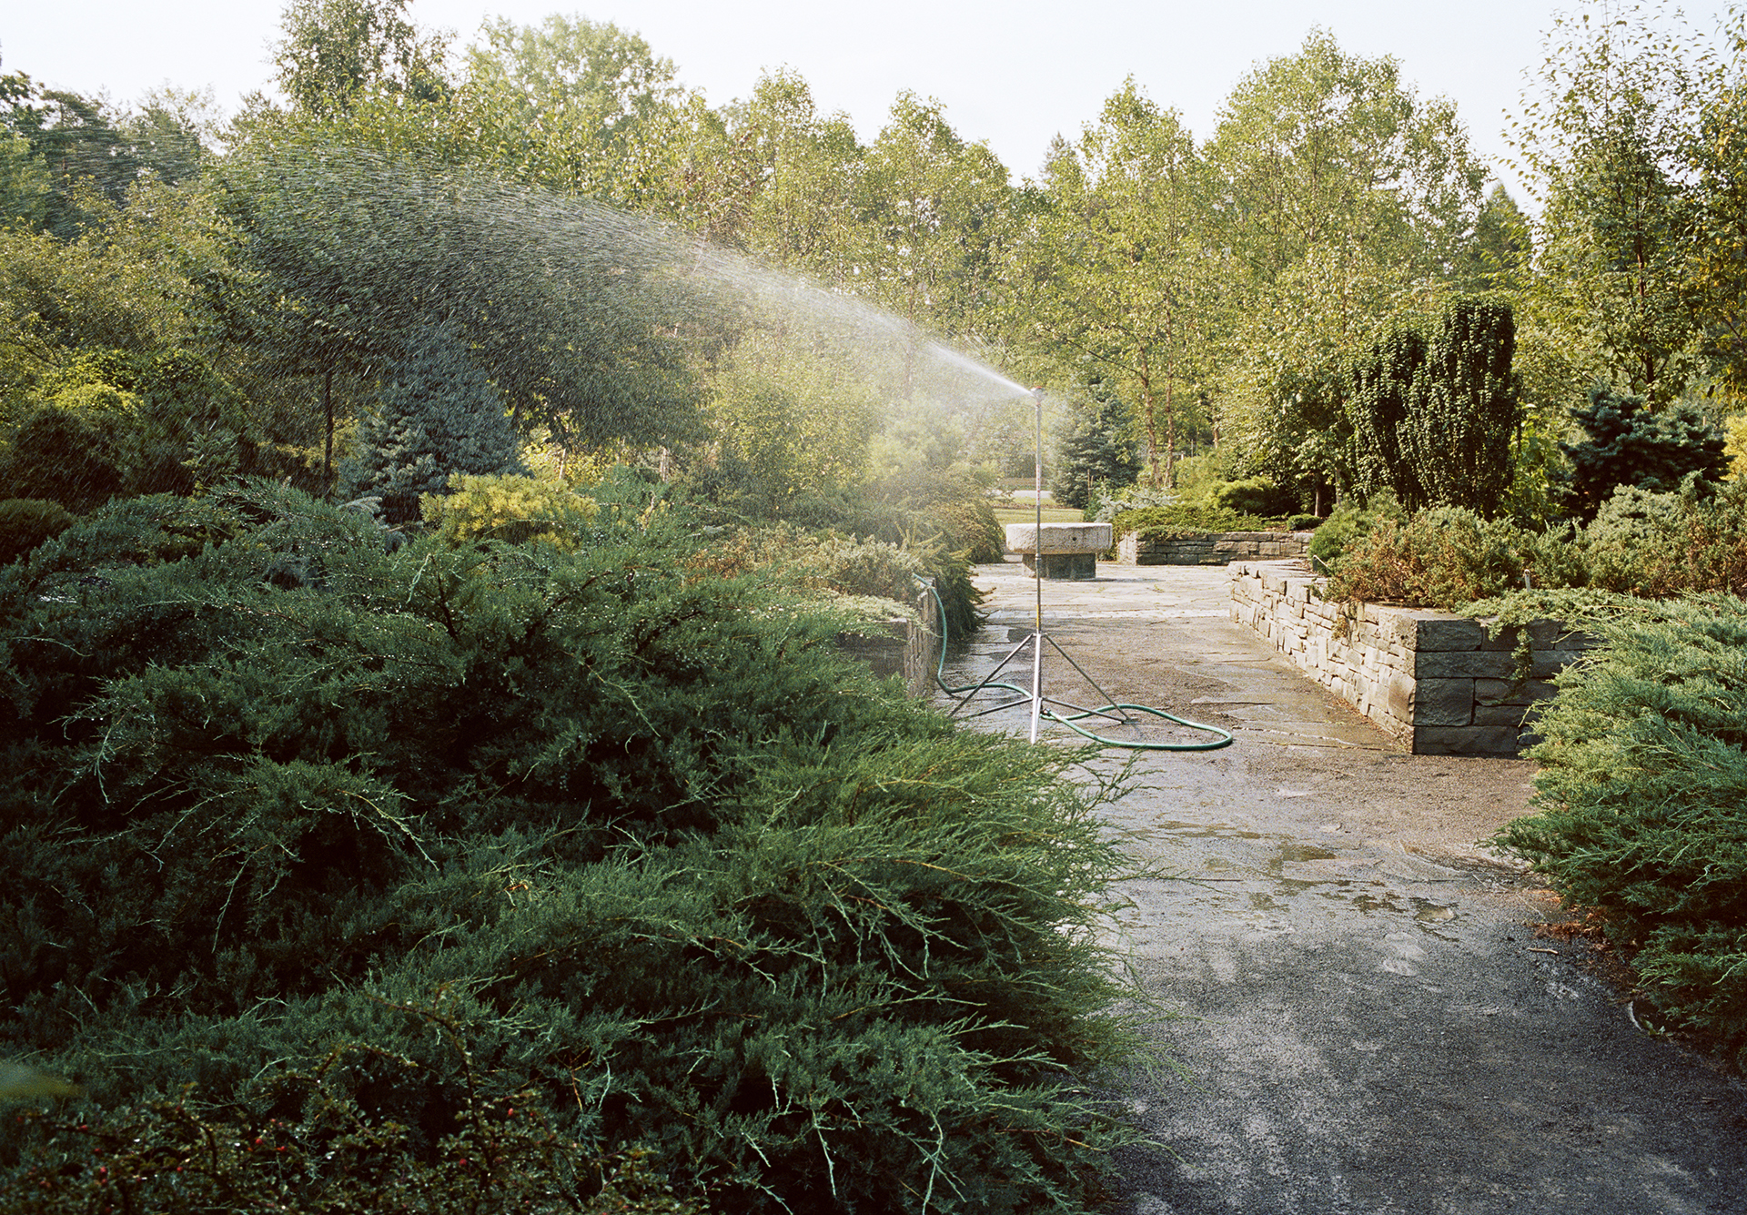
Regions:
<instances>
[{"instance_id":1,"label":"pale white sky above the treetops","mask_svg":"<svg viewBox=\"0 0 1747 1215\"><path fill-rule=\"evenodd\" d=\"M1422 96L1447 96L1474 149L1497 164L1509 156L1506 112L1525 72L1543 59L1553 14L1576 0L414 0L423 26L472 40L487 16L538 23L580 14L641 33L673 59L683 84L711 105L746 96L763 70L790 66L812 86L821 110L847 112L863 138L882 126L893 98L910 89L945 103L968 140L987 140L1015 180L1038 173L1050 138L1076 135L1125 77L1212 135L1219 103L1256 63L1291 54L1322 26L1349 52L1392 54ZM1714 0L1688 3L1712 30ZM269 89L269 44L280 0L82 0L63 7L7 0L0 12L0 70L51 87L105 91L126 105L147 89L211 87L234 112L243 94ZM1494 170L1518 201L1508 168Z\"/></svg>"}]
</instances>

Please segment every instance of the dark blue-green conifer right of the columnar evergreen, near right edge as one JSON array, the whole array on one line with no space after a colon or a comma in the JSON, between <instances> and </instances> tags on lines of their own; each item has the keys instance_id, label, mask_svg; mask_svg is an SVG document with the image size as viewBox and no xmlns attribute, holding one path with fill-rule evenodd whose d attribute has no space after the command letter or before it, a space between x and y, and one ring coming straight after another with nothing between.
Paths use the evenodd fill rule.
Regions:
<instances>
[{"instance_id":1,"label":"dark blue-green conifer right of the columnar evergreen, near right edge","mask_svg":"<svg viewBox=\"0 0 1747 1215\"><path fill-rule=\"evenodd\" d=\"M1585 439L1560 451L1571 460L1571 505L1585 519L1614 486L1668 493L1689 472L1717 479L1728 467L1723 434L1691 402L1654 409L1644 397L1595 385L1571 416Z\"/></svg>"}]
</instances>

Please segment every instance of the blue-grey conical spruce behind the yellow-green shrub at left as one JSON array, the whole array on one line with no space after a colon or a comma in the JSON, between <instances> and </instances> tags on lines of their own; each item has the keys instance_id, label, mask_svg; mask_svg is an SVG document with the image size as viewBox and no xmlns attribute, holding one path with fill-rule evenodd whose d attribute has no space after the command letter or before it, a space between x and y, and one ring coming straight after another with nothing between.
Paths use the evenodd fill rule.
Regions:
<instances>
[{"instance_id":1,"label":"blue-grey conical spruce behind the yellow-green shrub at left","mask_svg":"<svg viewBox=\"0 0 1747 1215\"><path fill-rule=\"evenodd\" d=\"M379 498L383 517L407 523L419 516L419 498L447 491L454 474L521 472L503 399L465 348L433 329L407 343L383 388L381 413L358 428L339 495Z\"/></svg>"}]
</instances>

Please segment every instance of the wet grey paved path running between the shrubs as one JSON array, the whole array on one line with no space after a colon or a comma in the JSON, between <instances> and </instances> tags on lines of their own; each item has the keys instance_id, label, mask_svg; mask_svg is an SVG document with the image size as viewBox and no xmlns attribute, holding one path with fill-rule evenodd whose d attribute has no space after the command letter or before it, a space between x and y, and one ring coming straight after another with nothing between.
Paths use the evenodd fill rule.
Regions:
<instances>
[{"instance_id":1,"label":"wet grey paved path running between the shrubs","mask_svg":"<svg viewBox=\"0 0 1747 1215\"><path fill-rule=\"evenodd\" d=\"M991 622L949 682L1034 619L1020 566L977 584ZM1230 622L1221 568L1101 565L1043 596L1115 699L1237 736L1143 753L1108 808L1176 874L1129 885L1122 930L1186 1072L1134 1079L1169 1150L1123 1161L1120 1212L1747 1213L1747 1086L1633 1028L1586 946L1536 930L1551 895L1480 843L1527 813L1532 764L1406 755ZM1048 647L1045 675L1099 703Z\"/></svg>"}]
</instances>

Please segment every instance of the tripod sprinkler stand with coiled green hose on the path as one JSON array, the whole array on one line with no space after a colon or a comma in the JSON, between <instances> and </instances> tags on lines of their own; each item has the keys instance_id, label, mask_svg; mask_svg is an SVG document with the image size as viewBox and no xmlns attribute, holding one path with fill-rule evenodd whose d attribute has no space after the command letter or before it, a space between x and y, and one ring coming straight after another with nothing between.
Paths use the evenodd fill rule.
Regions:
<instances>
[{"instance_id":1,"label":"tripod sprinkler stand with coiled green hose on the path","mask_svg":"<svg viewBox=\"0 0 1747 1215\"><path fill-rule=\"evenodd\" d=\"M1221 746L1230 746L1232 741L1233 741L1232 739L1232 732L1230 731L1223 731L1218 726L1207 726L1204 722L1191 722L1186 717L1177 717L1174 713L1167 713L1165 710L1153 708L1150 705L1127 705L1127 703L1120 703L1120 701L1113 699L1102 687L1097 685L1097 680L1094 680L1090 675L1087 675L1085 668L1080 666L1078 663L1074 663L1073 656L1067 654L1067 650L1064 650L1055 642L1055 638L1050 636L1045 631L1045 628L1043 628L1043 388L1032 388L1025 395L1029 395L1031 400L1032 400L1032 404L1036 406L1036 428L1034 428L1036 451L1034 451L1034 463L1032 463L1032 472L1034 472L1034 483L1032 483L1034 484L1034 498L1032 498L1032 502L1034 502L1034 509L1036 509L1036 516L1034 516L1036 517L1036 531L1034 531L1034 535L1036 535L1036 551L1032 552L1032 559L1031 559L1032 589L1034 589L1032 628L1031 628L1031 633L1019 645L1015 645L1012 650L1008 650L1006 657L1003 657L999 663L996 663L994 670L989 671L989 675L984 677L984 680L980 684L968 684L968 685L963 685L963 687L954 687L954 685L947 684L947 680L943 678L947 654L945 654L945 636L942 636L940 664L935 668L935 682L940 685L940 691L943 691L947 696L950 696L954 701L957 701L952 706L952 712L949 713L949 717L957 717L971 703L971 699L978 692L999 691L999 692L1012 694L1012 698L1006 699L1006 701L1003 701L1003 703L999 703L999 705L991 705L987 708L980 708L980 710L964 713L964 717L966 719L971 719L971 717L987 717L989 713L999 713L1001 710L1017 708L1020 705L1025 705L1029 708L1029 712L1031 712L1031 741L1032 743L1038 741L1038 727L1041 726L1041 722L1050 720L1050 722L1059 722L1060 726L1066 726L1067 729L1074 731L1076 734L1080 734L1083 738L1090 738L1095 743L1104 743L1106 746L1122 746L1122 748L1127 748L1127 750L1141 750L1141 752L1211 752L1211 750L1219 750ZM936 603L938 603L938 594L935 598L936 598ZM945 605L942 605L940 619L945 621ZM942 624L942 629L945 626ZM1083 678L1092 687L1092 691L1097 692L1097 696L1104 701L1101 706L1088 708L1085 705L1074 705L1071 701L1062 701L1062 699L1055 699L1052 696L1045 696L1043 694L1043 647L1045 647L1045 643L1048 643L1071 668L1074 668L1074 671L1080 673L1080 678ZM1012 663L1020 654L1024 654L1027 649L1031 650L1031 689L1027 691L1024 687L1019 687L1017 684L1008 684L1008 682L998 680L996 677L1006 668L1006 664ZM1066 712L1060 712L1060 710L1066 710ZM1090 731L1090 729L1080 726L1080 722L1085 722L1085 720L1102 720L1102 722L1111 722L1113 726L1137 727L1137 726L1144 724L1141 717L1136 717L1137 713L1144 713L1148 717L1155 717L1155 719L1160 719L1160 720L1165 720L1165 722L1172 722L1176 726L1184 726L1184 727L1188 727L1191 731L1200 731L1200 732L1205 732L1205 734L1212 734L1212 738L1209 741L1200 741L1200 743L1150 743L1150 741L1137 741L1137 739L1108 738L1104 734L1097 734L1095 731Z\"/></svg>"}]
</instances>

